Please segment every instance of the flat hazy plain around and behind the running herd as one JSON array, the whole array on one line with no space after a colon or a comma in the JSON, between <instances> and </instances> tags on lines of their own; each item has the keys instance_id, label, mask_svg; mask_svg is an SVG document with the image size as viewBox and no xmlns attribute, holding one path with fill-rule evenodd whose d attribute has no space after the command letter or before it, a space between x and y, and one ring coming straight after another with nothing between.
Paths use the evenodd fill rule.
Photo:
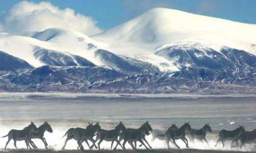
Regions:
<instances>
[{"instance_id":1,"label":"flat hazy plain around and behind the running herd","mask_svg":"<svg viewBox=\"0 0 256 153\"><path fill-rule=\"evenodd\" d=\"M40 125L44 120L53 127L53 134L46 132L49 148L60 150L65 138L61 138L69 127L86 127L88 121L101 121L104 129L113 129L122 120L127 127L139 127L149 120L153 128L166 129L171 123L181 126L190 121L191 127L198 129L210 123L214 133L207 135L207 144L195 141L191 148L207 150L230 150L214 147L218 130L233 130L244 125L246 130L256 127L256 97L254 95L108 95L108 94L69 94L69 93L1 93L0 94L0 136L11 129L22 129L34 121ZM153 148L165 149L163 141L151 142ZM3 149L7 138L0 139ZM42 142L34 141L39 148ZM185 148L183 142L178 144ZM25 148L18 142L18 148ZM84 144L86 146L86 144ZM104 142L102 148L108 149L110 143ZM127 147L129 147L127 145ZM8 148L13 148L13 142ZM67 143L67 149L76 149L74 140ZM174 148L174 146L172 146ZM238 150L234 148L233 150ZM243 151L255 150L253 146Z\"/></svg>"}]
</instances>

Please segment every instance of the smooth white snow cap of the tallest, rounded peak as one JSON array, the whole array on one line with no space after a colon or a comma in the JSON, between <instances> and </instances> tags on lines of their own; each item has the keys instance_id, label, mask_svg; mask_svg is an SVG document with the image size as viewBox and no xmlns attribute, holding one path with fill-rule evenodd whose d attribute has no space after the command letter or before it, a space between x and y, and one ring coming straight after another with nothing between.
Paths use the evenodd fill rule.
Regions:
<instances>
[{"instance_id":1,"label":"smooth white snow cap of the tallest, rounded peak","mask_svg":"<svg viewBox=\"0 0 256 153\"><path fill-rule=\"evenodd\" d=\"M117 54L153 54L159 46L184 41L256 54L251 48L251 44L256 44L256 25L164 8L146 11L92 38L108 42L108 50Z\"/></svg>"}]
</instances>

